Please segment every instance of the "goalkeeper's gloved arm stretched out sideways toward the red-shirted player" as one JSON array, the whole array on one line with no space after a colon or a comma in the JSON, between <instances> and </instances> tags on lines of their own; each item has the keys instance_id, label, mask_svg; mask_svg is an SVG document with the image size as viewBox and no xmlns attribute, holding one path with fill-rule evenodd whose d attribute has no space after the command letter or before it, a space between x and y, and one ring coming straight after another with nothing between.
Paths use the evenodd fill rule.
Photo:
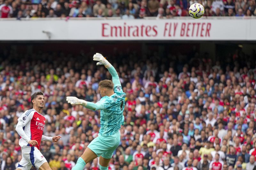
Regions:
<instances>
[{"instance_id":1,"label":"goalkeeper's gloved arm stretched out sideways toward the red-shirted player","mask_svg":"<svg viewBox=\"0 0 256 170\"><path fill-rule=\"evenodd\" d=\"M92 102L78 99L78 98L72 97L72 96L68 96L66 98L66 100L71 105L82 105L90 110L103 110L104 109L104 100L100 100L97 103L92 103Z\"/></svg>"}]
</instances>

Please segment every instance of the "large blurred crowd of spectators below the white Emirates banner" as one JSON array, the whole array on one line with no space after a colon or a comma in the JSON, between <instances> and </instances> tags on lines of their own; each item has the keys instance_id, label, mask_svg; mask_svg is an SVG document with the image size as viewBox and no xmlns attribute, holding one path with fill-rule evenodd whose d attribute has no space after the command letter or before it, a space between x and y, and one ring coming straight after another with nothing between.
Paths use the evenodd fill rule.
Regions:
<instances>
[{"instance_id":1,"label":"large blurred crowd of spectators below the white Emirates banner","mask_svg":"<svg viewBox=\"0 0 256 170\"><path fill-rule=\"evenodd\" d=\"M236 51L223 62L191 54L108 55L127 94L121 142L109 169L255 169L255 54ZM41 91L44 135L62 137L58 143L42 141L41 152L52 170L71 170L97 137L100 112L71 106L66 96L97 102L98 83L111 79L109 72L96 66L90 52L0 55L0 169L17 167L17 119ZM98 163L94 159L85 169L97 170Z\"/></svg>"}]
</instances>

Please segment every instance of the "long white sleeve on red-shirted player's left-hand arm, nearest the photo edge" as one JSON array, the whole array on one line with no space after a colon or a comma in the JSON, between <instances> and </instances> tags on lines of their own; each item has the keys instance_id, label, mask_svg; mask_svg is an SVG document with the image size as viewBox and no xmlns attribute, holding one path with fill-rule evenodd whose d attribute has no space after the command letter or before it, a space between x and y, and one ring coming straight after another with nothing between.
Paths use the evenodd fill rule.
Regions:
<instances>
[{"instance_id":1,"label":"long white sleeve on red-shirted player's left-hand arm, nearest the photo edge","mask_svg":"<svg viewBox=\"0 0 256 170\"><path fill-rule=\"evenodd\" d=\"M30 141L30 138L24 132L23 127L26 126L26 124L31 121L33 115L34 115L33 110L32 111L27 110L26 112L24 112L18 119L18 123L15 129L20 135L20 137L23 138L26 142Z\"/></svg>"}]
</instances>

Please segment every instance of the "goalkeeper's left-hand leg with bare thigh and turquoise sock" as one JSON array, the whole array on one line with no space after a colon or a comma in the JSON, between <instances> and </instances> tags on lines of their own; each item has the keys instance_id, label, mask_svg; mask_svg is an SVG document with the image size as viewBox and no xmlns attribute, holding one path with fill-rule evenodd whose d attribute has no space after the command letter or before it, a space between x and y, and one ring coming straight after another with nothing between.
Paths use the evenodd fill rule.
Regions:
<instances>
[{"instance_id":1,"label":"goalkeeper's left-hand leg with bare thigh and turquoise sock","mask_svg":"<svg viewBox=\"0 0 256 170\"><path fill-rule=\"evenodd\" d=\"M97 158L98 156L92 152L88 147L85 149L83 155L78 158L76 165L72 168L72 170L83 170L85 164Z\"/></svg>"}]
</instances>

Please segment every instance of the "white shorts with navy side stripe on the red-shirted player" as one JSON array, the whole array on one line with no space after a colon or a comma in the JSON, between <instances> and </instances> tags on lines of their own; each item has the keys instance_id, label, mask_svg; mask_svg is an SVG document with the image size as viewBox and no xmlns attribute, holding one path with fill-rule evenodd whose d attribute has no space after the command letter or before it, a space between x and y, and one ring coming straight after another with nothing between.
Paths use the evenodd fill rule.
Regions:
<instances>
[{"instance_id":1,"label":"white shorts with navy side stripe on the red-shirted player","mask_svg":"<svg viewBox=\"0 0 256 170\"><path fill-rule=\"evenodd\" d=\"M47 162L42 153L34 146L22 146L21 147L22 159L18 164L19 169L30 170L32 166L39 169L44 162Z\"/></svg>"}]
</instances>

